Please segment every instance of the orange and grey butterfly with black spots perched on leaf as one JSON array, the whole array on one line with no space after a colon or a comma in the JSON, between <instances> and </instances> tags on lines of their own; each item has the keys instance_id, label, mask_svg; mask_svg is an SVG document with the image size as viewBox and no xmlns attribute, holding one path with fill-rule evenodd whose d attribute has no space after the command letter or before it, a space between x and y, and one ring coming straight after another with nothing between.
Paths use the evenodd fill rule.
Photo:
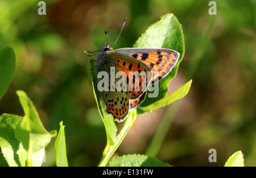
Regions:
<instances>
[{"instance_id":1,"label":"orange and grey butterfly with black spots perched on leaf","mask_svg":"<svg viewBox=\"0 0 256 178\"><path fill-rule=\"evenodd\" d=\"M117 40L126 20L123 22ZM105 33L108 37L108 33L106 31ZM98 55L94 68L97 69L98 73L105 72L107 79L114 78L105 83L108 85L107 87L104 86L107 90L101 91L101 96L106 103L106 111L113 115L114 121L122 122L132 109L137 108L144 101L147 87L170 73L180 54L175 50L164 48L121 48L114 50L114 45L111 45L110 40L109 44L104 44L100 50L95 51L99 53L89 55L89 57ZM133 75L129 75L131 73ZM143 75L140 75L142 73ZM156 75L154 75L155 73ZM117 74L119 77L116 77ZM121 83L118 88L117 83L121 80L120 78L124 83ZM100 82L98 80L94 86L98 83L99 87Z\"/></svg>"}]
</instances>

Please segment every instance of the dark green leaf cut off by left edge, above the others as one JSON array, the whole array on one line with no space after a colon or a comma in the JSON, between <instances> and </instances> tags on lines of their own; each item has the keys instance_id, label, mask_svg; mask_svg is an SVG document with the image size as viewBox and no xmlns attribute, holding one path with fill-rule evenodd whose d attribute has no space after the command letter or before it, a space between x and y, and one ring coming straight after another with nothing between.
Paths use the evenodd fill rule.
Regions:
<instances>
[{"instance_id":1,"label":"dark green leaf cut off by left edge, above the others","mask_svg":"<svg viewBox=\"0 0 256 178\"><path fill-rule=\"evenodd\" d=\"M15 70L15 53L10 46L0 50L0 100L5 94Z\"/></svg>"}]
</instances>

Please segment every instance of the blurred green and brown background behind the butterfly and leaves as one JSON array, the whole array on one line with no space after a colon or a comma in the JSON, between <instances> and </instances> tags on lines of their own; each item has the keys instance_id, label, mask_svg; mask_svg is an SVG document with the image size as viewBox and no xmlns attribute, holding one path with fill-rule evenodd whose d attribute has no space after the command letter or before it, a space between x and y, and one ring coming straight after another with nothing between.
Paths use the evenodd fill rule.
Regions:
<instances>
[{"instance_id":1,"label":"blurred green and brown background behind the butterfly and leaves","mask_svg":"<svg viewBox=\"0 0 256 178\"><path fill-rule=\"evenodd\" d=\"M179 103L139 115L114 156L145 154L163 117L171 127L156 158L173 166L224 166L241 150L245 166L256 166L256 5L254 0L215 1L0 1L0 48L16 53L14 78L0 113L23 116L16 90L34 102L47 130L65 125L69 166L97 166L106 145L104 124L88 83L84 50L98 50L127 23L115 49L132 47L166 13L182 25L185 56L170 91L193 79ZM174 115L174 118L172 118ZM53 138L43 166L55 166ZM217 162L209 163L209 149Z\"/></svg>"}]
</instances>

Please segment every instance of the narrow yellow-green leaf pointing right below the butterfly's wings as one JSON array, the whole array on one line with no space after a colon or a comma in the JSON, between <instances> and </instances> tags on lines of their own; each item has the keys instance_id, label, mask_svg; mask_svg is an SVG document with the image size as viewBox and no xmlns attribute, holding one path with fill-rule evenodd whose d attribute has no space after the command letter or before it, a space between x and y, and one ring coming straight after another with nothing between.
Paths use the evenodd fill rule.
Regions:
<instances>
[{"instance_id":1,"label":"narrow yellow-green leaf pointing right below the butterfly's wings","mask_svg":"<svg viewBox=\"0 0 256 178\"><path fill-rule=\"evenodd\" d=\"M168 96L164 97L163 99L160 99L160 100L156 101L155 103L148 105L146 107L139 106L139 109L142 109L144 111L151 111L151 110L169 105L172 102L179 100L179 99L183 98L185 95L187 95L189 88L191 87L191 83L192 83L192 80L189 80L189 82L185 83L182 87L180 87L176 91L172 92L170 95L168 95Z\"/></svg>"}]
</instances>

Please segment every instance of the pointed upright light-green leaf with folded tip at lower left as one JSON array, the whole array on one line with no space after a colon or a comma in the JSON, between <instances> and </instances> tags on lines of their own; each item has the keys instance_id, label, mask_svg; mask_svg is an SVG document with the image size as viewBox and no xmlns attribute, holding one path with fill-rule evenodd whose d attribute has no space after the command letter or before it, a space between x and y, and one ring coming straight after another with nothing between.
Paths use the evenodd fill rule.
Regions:
<instances>
[{"instance_id":1,"label":"pointed upright light-green leaf with folded tip at lower left","mask_svg":"<svg viewBox=\"0 0 256 178\"><path fill-rule=\"evenodd\" d=\"M34 104L23 91L17 91L20 104L24 110L25 116L19 122L15 129L15 137L27 151L26 165L32 166L32 155L41 149L44 149L55 137L56 131L49 133L43 126Z\"/></svg>"}]
</instances>

